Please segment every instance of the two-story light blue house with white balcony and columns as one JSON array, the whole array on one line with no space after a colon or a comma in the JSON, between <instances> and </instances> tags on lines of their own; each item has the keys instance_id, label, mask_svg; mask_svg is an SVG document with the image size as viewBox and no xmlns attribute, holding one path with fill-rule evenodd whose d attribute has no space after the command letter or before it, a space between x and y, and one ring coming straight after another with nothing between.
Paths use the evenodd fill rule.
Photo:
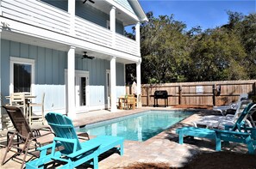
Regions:
<instances>
[{"instance_id":1,"label":"two-story light blue house with white balcony and columns","mask_svg":"<svg viewBox=\"0 0 256 169\"><path fill-rule=\"evenodd\" d=\"M140 94L140 23L137 0L0 0L0 92L29 92L45 110L104 109L125 94L125 64L136 63ZM124 28L134 25L134 39ZM7 103L3 97L3 104Z\"/></svg>"}]
</instances>

